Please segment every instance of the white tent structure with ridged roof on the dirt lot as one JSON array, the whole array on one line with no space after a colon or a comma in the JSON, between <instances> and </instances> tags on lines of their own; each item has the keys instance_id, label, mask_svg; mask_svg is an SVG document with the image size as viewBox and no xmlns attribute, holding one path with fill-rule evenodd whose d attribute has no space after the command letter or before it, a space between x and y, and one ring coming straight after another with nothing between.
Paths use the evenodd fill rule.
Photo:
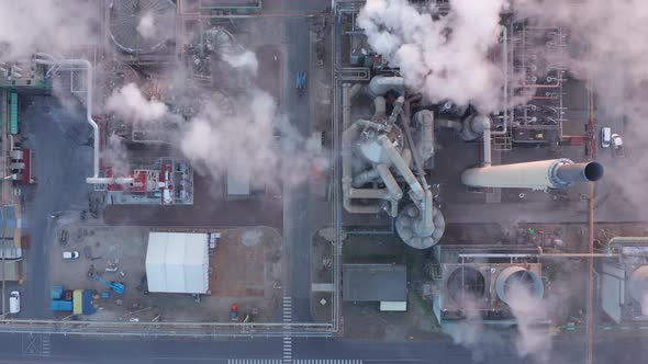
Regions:
<instances>
[{"instance_id":1,"label":"white tent structure with ridged roof on the dirt lot","mask_svg":"<svg viewBox=\"0 0 648 364\"><path fill-rule=\"evenodd\" d=\"M208 240L206 234L149 232L146 250L148 291L206 293Z\"/></svg>"}]
</instances>

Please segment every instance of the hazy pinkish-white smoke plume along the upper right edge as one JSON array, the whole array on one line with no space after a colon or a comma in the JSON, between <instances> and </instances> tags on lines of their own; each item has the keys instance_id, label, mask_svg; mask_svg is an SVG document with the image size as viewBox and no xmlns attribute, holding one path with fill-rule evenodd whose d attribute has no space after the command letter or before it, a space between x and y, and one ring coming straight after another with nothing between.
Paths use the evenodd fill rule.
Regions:
<instances>
[{"instance_id":1,"label":"hazy pinkish-white smoke plume along the upper right edge","mask_svg":"<svg viewBox=\"0 0 648 364\"><path fill-rule=\"evenodd\" d=\"M583 50L562 60L574 77L593 80L601 126L623 120L623 136L633 155L605 166L605 180L617 186L614 197L604 201L608 206L624 201L619 209L629 207L630 214L646 212L648 195L641 186L648 172L648 2L515 0L514 5L516 16L532 26L563 27L573 43L580 43Z\"/></svg>"}]
</instances>

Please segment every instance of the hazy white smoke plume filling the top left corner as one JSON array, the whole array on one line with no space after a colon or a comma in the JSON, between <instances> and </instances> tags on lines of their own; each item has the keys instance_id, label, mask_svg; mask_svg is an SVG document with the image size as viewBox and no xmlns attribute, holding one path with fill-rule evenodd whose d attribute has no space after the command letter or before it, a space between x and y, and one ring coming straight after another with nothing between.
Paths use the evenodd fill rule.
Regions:
<instances>
[{"instance_id":1,"label":"hazy white smoke plume filling the top left corner","mask_svg":"<svg viewBox=\"0 0 648 364\"><path fill-rule=\"evenodd\" d=\"M35 50L65 53L96 43L94 1L0 1L0 59L30 57Z\"/></svg>"}]
</instances>

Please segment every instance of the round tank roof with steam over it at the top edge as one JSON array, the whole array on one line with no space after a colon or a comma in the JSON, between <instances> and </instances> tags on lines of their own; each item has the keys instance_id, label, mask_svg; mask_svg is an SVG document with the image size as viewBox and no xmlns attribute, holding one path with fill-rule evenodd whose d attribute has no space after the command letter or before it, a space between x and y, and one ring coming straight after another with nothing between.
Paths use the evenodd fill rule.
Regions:
<instances>
[{"instance_id":1,"label":"round tank roof with steam over it at the top edge","mask_svg":"<svg viewBox=\"0 0 648 364\"><path fill-rule=\"evenodd\" d=\"M171 0L112 0L112 42L125 53L153 53L172 36L176 5Z\"/></svg>"}]
</instances>

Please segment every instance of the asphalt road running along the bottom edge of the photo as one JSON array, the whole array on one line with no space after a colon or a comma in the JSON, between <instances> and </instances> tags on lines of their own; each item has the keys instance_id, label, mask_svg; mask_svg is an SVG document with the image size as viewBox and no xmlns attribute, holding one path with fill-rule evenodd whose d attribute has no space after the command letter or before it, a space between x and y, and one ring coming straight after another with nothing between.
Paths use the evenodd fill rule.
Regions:
<instances>
[{"instance_id":1,"label":"asphalt road running along the bottom edge of the photo","mask_svg":"<svg viewBox=\"0 0 648 364\"><path fill-rule=\"evenodd\" d=\"M546 363L584 362L584 345L578 333L556 338ZM648 355L648 338L628 338L608 333L594 351L594 363L644 363ZM272 339L238 340L141 340L115 338L82 338L64 335L0 334L0 363L281 363L282 341ZM292 362L326 360L325 364L351 363L535 363L519 357L513 344L480 348L477 351L456 345L448 340L434 342L369 342L335 339L293 339ZM344 362L346 361L346 362ZM299 362L297 362L299 363ZM309 362L316 363L316 362ZM322 362L321 362L322 363Z\"/></svg>"}]
</instances>

